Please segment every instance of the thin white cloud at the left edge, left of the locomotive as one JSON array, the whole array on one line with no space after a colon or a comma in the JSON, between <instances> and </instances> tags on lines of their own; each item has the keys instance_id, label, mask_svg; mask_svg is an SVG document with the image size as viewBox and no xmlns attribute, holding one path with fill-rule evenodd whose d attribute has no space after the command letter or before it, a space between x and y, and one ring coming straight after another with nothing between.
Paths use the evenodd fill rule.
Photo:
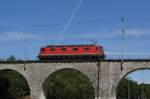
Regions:
<instances>
[{"instance_id":1,"label":"thin white cloud at the left edge, left of the locomotive","mask_svg":"<svg viewBox=\"0 0 150 99\"><path fill-rule=\"evenodd\" d=\"M24 33L24 32L0 33L0 42L18 41L18 40L24 40L25 38L28 40L38 40L40 39L40 36L32 33Z\"/></svg>"}]
</instances>

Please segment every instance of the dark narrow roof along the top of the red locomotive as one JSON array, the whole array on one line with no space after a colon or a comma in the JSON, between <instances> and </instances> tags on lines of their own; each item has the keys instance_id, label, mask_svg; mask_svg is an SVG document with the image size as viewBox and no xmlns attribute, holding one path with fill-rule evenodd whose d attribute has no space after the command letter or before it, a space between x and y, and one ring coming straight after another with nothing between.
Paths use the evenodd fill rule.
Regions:
<instances>
[{"instance_id":1,"label":"dark narrow roof along the top of the red locomotive","mask_svg":"<svg viewBox=\"0 0 150 99\"><path fill-rule=\"evenodd\" d=\"M96 44L82 44L82 45L47 45L46 47L83 47L83 46L100 46Z\"/></svg>"}]
</instances>

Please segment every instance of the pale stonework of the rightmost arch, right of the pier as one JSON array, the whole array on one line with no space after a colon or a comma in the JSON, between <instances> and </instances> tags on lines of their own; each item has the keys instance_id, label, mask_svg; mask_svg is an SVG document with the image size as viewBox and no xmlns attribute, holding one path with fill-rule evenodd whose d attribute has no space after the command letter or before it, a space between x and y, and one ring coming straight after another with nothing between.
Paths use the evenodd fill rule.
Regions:
<instances>
[{"instance_id":1,"label":"pale stonework of the rightmost arch, right of the pier","mask_svg":"<svg viewBox=\"0 0 150 99\"><path fill-rule=\"evenodd\" d=\"M120 63L121 66L121 63ZM117 86L119 85L120 81L127 76L128 74L143 69L150 69L150 60L149 61L125 61L122 65L123 70L118 70L119 65L113 67L113 77L111 83L111 96L112 99L116 99L116 90Z\"/></svg>"}]
</instances>

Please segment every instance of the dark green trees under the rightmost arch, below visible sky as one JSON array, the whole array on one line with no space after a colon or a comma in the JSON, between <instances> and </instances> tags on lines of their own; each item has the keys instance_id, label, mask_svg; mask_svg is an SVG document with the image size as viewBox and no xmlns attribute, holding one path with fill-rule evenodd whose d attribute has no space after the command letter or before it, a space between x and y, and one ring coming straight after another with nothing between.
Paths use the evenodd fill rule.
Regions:
<instances>
[{"instance_id":1,"label":"dark green trees under the rightmost arch, below visible sky","mask_svg":"<svg viewBox=\"0 0 150 99\"><path fill-rule=\"evenodd\" d=\"M117 99L128 99L128 91L130 99L142 99L142 84L124 78L117 88ZM144 99L150 99L150 84L143 84Z\"/></svg>"}]
</instances>

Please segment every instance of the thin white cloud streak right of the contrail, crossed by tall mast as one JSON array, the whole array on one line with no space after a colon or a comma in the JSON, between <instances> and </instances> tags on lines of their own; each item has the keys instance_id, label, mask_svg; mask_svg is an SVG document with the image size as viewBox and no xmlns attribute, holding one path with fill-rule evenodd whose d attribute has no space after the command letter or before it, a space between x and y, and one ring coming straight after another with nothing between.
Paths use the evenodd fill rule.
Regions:
<instances>
[{"instance_id":1,"label":"thin white cloud streak right of the contrail, crossed by tall mast","mask_svg":"<svg viewBox=\"0 0 150 99\"><path fill-rule=\"evenodd\" d=\"M150 30L147 29L128 29L125 30L125 37L141 37L141 36L150 36ZM120 38L121 30L102 30L93 33L87 33L80 37L83 38L98 38L98 39L111 39L111 38Z\"/></svg>"}]
</instances>

